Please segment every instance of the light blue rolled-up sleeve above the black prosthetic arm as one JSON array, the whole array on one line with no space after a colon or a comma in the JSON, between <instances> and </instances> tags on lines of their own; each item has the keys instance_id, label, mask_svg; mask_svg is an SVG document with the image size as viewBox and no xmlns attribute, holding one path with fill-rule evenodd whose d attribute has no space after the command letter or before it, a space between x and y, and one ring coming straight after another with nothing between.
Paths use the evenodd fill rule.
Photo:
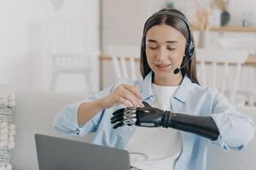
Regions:
<instances>
[{"instance_id":1,"label":"light blue rolled-up sleeve above the black prosthetic arm","mask_svg":"<svg viewBox=\"0 0 256 170\"><path fill-rule=\"evenodd\" d=\"M253 139L255 127L251 118L236 111L224 95L217 92L212 119L216 123L219 136L213 143L218 143L224 150L242 150Z\"/></svg>"}]
</instances>

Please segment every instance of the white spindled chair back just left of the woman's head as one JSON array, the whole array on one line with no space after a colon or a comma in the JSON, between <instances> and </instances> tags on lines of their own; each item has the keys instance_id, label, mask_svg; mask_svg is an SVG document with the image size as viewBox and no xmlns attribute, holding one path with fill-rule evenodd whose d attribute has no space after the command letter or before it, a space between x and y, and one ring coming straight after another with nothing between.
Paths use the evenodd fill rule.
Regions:
<instances>
[{"instance_id":1,"label":"white spindled chair back just left of the woman's head","mask_svg":"<svg viewBox=\"0 0 256 170\"><path fill-rule=\"evenodd\" d=\"M139 67L137 61L140 57L140 48L137 46L108 46L108 55L113 61L115 76L137 80Z\"/></svg>"}]
</instances>

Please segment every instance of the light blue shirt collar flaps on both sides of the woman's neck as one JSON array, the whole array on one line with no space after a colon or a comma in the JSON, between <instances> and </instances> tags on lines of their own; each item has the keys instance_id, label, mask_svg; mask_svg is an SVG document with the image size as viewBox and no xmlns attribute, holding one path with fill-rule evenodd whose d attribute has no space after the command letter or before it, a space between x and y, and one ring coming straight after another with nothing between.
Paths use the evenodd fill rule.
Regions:
<instances>
[{"instance_id":1,"label":"light blue shirt collar flaps on both sides of the woman's neck","mask_svg":"<svg viewBox=\"0 0 256 170\"><path fill-rule=\"evenodd\" d=\"M149 97L154 96L152 87L152 71L148 73L148 75L143 80L143 100L148 99ZM180 84L179 88L177 88L177 91L175 94L173 94L173 97L175 99L178 99L181 102L186 102L186 99L188 98L189 91L191 89L192 82L187 75L183 77L183 81Z\"/></svg>"}]
</instances>

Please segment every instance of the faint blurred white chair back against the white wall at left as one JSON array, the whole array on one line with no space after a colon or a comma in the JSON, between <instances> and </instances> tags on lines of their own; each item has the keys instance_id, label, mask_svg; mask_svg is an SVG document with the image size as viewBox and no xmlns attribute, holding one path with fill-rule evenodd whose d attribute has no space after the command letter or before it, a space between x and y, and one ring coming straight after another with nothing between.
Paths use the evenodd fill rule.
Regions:
<instances>
[{"instance_id":1,"label":"faint blurred white chair back against the white wall at left","mask_svg":"<svg viewBox=\"0 0 256 170\"><path fill-rule=\"evenodd\" d=\"M84 53L87 48L86 21L79 18L57 17L46 21L50 53Z\"/></svg>"}]
</instances>

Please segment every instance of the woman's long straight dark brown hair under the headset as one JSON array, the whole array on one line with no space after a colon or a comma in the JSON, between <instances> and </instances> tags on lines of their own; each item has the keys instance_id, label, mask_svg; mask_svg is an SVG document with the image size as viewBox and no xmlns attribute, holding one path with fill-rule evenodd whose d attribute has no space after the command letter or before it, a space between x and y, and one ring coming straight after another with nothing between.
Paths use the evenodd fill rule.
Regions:
<instances>
[{"instance_id":1,"label":"woman's long straight dark brown hair under the headset","mask_svg":"<svg viewBox=\"0 0 256 170\"><path fill-rule=\"evenodd\" d=\"M180 12L179 10L177 10L176 8L163 8L159 12L161 12L161 11L170 11L170 12L179 14L183 17L184 20L187 21L185 15L182 12ZM157 13L159 13L159 12L157 12ZM141 71L143 78L145 78L148 75L148 73L151 71L151 68L148 65L148 60L147 60L147 55L146 55L146 50L145 50L146 49L146 35L148 33L148 30L151 27L157 26L157 25L162 25L162 24L172 26L174 29L176 29L177 31L180 31L183 34L183 36L187 40L187 44L189 41L189 28L183 20L181 20L180 18L178 18L175 15L157 14L157 13L153 14L153 16L151 16L149 18L149 20L146 22L146 24L144 26L143 40L142 40L142 45L141 45L141 59L140 59L140 71ZM194 42L194 38L193 38L191 31L190 31L190 38L191 38L191 41ZM195 52L191 57L192 58L190 60L189 60L189 57L187 57L187 56L183 57L183 62L182 62L181 66L183 66L184 64L186 64L188 62L189 62L189 64L185 65L184 68L181 70L181 72L182 72L183 77L185 75L187 75L192 82L199 84L197 77L196 77Z\"/></svg>"}]
</instances>

